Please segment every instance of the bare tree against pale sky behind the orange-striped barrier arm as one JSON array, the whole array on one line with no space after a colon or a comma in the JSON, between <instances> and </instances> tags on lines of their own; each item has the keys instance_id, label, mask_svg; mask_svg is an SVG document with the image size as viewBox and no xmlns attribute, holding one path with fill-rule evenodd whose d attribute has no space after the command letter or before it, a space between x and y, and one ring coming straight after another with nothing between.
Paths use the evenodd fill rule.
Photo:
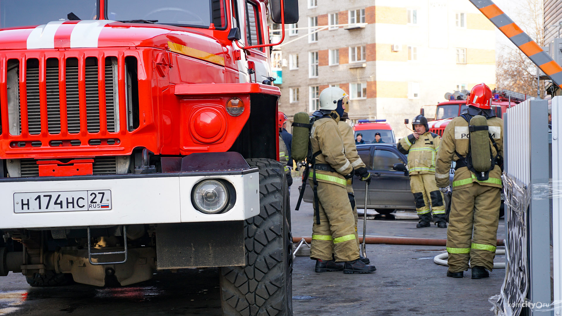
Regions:
<instances>
[{"instance_id":1,"label":"bare tree against pale sky behind the orange-striped barrier arm","mask_svg":"<svg viewBox=\"0 0 562 316\"><path fill-rule=\"evenodd\" d=\"M544 45L543 2L523 0L514 10L512 18L537 44ZM496 85L512 91L537 95L537 67L514 45L504 45L496 60ZM541 83L541 97L544 96Z\"/></svg>"}]
</instances>

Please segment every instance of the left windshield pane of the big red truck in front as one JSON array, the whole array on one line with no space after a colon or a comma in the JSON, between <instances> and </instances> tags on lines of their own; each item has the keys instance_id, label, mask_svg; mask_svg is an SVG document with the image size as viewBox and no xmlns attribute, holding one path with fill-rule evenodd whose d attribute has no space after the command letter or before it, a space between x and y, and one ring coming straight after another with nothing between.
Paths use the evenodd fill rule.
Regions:
<instances>
[{"instance_id":1,"label":"left windshield pane of the big red truck in front","mask_svg":"<svg viewBox=\"0 0 562 316\"><path fill-rule=\"evenodd\" d=\"M69 13L74 13L81 20L96 20L97 0L0 1L0 28L66 21L69 20Z\"/></svg>"}]
</instances>

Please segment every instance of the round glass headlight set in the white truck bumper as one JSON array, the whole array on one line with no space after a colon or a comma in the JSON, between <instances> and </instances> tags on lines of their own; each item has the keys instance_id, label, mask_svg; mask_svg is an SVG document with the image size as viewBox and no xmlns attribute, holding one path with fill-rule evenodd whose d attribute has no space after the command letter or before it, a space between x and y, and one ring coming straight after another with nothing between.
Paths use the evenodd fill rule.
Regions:
<instances>
[{"instance_id":1,"label":"round glass headlight set in the white truck bumper","mask_svg":"<svg viewBox=\"0 0 562 316\"><path fill-rule=\"evenodd\" d=\"M229 189L218 180L203 180L193 188L192 201L202 213L220 213L228 206Z\"/></svg>"}]
</instances>

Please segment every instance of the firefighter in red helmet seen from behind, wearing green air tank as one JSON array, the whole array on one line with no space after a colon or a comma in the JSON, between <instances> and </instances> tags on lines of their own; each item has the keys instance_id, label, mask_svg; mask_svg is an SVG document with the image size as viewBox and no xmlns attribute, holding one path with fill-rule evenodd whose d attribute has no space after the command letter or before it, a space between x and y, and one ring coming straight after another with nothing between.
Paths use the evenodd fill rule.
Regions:
<instances>
[{"instance_id":1,"label":"firefighter in red helmet seen from behind, wearing green air tank","mask_svg":"<svg viewBox=\"0 0 562 316\"><path fill-rule=\"evenodd\" d=\"M503 156L503 120L497 118L490 106L492 92L486 84L478 84L466 101L467 112L453 119L443 132L437 154L436 180L442 191L448 191L451 161L456 161L452 183L451 213L447 230L448 271L447 277L462 278L468 263L472 265L472 278L488 277L496 254L496 233L500 214L501 165ZM469 121L476 115L486 118L491 153L487 175L469 170L478 152L471 146L469 133L475 128ZM468 121L467 121L468 120ZM486 134L484 134L486 135ZM486 138L484 138L487 140ZM472 161L472 160L471 160ZM471 167L474 169L474 166ZM485 176L485 177L483 177ZM480 179L479 179L480 178Z\"/></svg>"}]
</instances>

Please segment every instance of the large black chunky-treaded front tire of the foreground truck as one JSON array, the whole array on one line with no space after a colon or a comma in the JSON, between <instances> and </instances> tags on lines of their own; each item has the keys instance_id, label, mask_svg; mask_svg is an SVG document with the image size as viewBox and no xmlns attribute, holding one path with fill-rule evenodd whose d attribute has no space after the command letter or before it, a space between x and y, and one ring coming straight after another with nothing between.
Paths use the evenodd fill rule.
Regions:
<instances>
[{"instance_id":1,"label":"large black chunky-treaded front tire of the foreground truck","mask_svg":"<svg viewBox=\"0 0 562 316\"><path fill-rule=\"evenodd\" d=\"M291 316L292 235L283 165L247 159L259 168L260 214L245 221L246 265L220 269L221 306L226 316Z\"/></svg>"}]
</instances>

